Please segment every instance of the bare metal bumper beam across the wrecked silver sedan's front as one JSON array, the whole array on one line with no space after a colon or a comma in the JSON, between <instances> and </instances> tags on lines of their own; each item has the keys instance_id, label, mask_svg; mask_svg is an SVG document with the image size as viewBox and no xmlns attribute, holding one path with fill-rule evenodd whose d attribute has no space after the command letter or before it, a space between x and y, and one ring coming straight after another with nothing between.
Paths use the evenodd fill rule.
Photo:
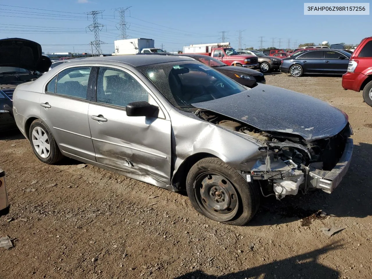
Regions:
<instances>
[{"instance_id":1,"label":"bare metal bumper beam across the wrecked silver sedan's front","mask_svg":"<svg viewBox=\"0 0 372 279\"><path fill-rule=\"evenodd\" d=\"M324 192L332 191L340 184L350 166L351 156L353 153L353 140L348 138L345 145L344 153L336 166L330 170L319 170L311 167L308 177L309 187L322 189Z\"/></svg>"}]
</instances>

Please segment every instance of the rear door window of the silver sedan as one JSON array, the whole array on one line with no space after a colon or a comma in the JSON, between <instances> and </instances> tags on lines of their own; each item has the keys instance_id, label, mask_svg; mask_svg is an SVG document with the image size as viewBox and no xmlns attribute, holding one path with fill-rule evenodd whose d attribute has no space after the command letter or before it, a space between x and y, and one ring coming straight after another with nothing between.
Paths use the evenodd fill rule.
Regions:
<instances>
[{"instance_id":1,"label":"rear door window of the silver sedan","mask_svg":"<svg viewBox=\"0 0 372 279\"><path fill-rule=\"evenodd\" d=\"M86 99L91 69L92 67L75 67L61 71L57 77L55 93Z\"/></svg>"}]
</instances>

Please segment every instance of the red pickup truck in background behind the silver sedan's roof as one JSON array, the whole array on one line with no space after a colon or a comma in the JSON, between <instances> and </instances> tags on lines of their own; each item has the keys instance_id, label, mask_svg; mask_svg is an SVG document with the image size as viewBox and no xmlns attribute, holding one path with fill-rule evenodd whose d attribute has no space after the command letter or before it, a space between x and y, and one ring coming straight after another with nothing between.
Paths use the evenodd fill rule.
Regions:
<instances>
[{"instance_id":1,"label":"red pickup truck in background behind the silver sedan's roof","mask_svg":"<svg viewBox=\"0 0 372 279\"><path fill-rule=\"evenodd\" d=\"M206 51L210 52L192 53L203 54L217 58L228 66L240 66L250 69L259 69L258 58L256 56L240 55L235 51L235 49L231 47L207 47Z\"/></svg>"}]
</instances>

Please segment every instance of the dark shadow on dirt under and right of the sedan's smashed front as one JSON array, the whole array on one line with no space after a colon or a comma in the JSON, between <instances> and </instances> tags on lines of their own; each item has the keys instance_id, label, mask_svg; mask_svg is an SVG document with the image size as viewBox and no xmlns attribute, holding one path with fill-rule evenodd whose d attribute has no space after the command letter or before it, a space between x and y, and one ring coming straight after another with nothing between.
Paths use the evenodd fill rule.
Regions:
<instances>
[{"instance_id":1,"label":"dark shadow on dirt under and right of the sedan's smashed front","mask_svg":"<svg viewBox=\"0 0 372 279\"><path fill-rule=\"evenodd\" d=\"M247 226L283 224L300 219L304 220L303 225L308 225L312 219L320 217L317 214L320 210L336 217L372 215L371 157L371 144L354 145L349 170L333 193L316 190L305 195L286 196L280 201L273 196L262 198L259 211Z\"/></svg>"}]
</instances>

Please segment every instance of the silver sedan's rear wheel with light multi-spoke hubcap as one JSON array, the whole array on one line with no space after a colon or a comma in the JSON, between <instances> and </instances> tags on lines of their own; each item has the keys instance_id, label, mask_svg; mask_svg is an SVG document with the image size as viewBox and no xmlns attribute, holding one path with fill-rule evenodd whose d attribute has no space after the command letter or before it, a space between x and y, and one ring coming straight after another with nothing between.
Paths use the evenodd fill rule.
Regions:
<instances>
[{"instance_id":1,"label":"silver sedan's rear wheel with light multi-spoke hubcap","mask_svg":"<svg viewBox=\"0 0 372 279\"><path fill-rule=\"evenodd\" d=\"M55 164L62 160L63 155L58 148L52 132L39 119L31 123L29 139L33 153L46 164Z\"/></svg>"}]
</instances>

